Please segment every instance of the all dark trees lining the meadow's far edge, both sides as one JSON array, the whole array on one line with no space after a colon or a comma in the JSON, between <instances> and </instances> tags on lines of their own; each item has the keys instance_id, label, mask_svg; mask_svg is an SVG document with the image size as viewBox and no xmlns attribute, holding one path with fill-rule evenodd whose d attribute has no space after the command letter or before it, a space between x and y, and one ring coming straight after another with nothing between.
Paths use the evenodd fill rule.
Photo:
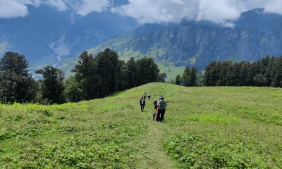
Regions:
<instances>
[{"instance_id":1,"label":"all dark trees lining the meadow's far edge, both sides","mask_svg":"<svg viewBox=\"0 0 282 169\"><path fill-rule=\"evenodd\" d=\"M35 80L27 70L25 56L6 52L0 60L0 103L36 102L62 104L103 98L149 82L165 82L166 74L152 58L121 61L111 49L92 56L82 52L73 68L74 75L65 80L64 73L53 66L37 70L42 79ZM186 67L171 83L183 86L256 86L282 87L282 57L266 56L256 62L212 62L204 72Z\"/></svg>"}]
</instances>

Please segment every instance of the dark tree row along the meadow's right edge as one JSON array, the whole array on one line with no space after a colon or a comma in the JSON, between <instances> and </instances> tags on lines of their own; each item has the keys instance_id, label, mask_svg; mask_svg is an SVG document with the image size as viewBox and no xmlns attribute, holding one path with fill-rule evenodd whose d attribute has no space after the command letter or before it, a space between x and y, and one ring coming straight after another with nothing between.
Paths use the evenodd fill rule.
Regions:
<instances>
[{"instance_id":1,"label":"dark tree row along the meadow's right edge","mask_svg":"<svg viewBox=\"0 0 282 169\"><path fill-rule=\"evenodd\" d=\"M282 57L266 56L252 63L213 61L204 73L187 67L173 83L184 86L282 87Z\"/></svg>"}]
</instances>

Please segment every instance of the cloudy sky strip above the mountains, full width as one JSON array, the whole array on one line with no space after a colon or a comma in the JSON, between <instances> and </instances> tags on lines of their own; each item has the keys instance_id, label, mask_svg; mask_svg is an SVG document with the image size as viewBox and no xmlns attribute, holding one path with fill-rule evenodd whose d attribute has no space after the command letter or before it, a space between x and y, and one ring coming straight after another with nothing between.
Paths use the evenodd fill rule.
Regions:
<instances>
[{"instance_id":1,"label":"cloudy sky strip above the mountains, full width","mask_svg":"<svg viewBox=\"0 0 282 169\"><path fill-rule=\"evenodd\" d=\"M27 4L47 4L58 11L75 10L78 15L111 11L135 18L138 23L179 23L189 20L209 20L232 27L240 13L264 8L266 13L282 15L282 0L0 0L0 18L18 18L28 15ZM123 0L124 1L124 0Z\"/></svg>"}]
</instances>

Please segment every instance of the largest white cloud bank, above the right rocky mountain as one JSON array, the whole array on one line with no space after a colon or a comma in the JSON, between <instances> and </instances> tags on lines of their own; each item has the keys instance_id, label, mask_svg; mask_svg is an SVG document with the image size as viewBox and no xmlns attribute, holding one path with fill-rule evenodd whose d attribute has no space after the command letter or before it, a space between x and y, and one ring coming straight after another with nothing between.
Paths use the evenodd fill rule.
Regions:
<instances>
[{"instance_id":1,"label":"largest white cloud bank, above the right rocky mountain","mask_svg":"<svg viewBox=\"0 0 282 169\"><path fill-rule=\"evenodd\" d=\"M178 23L188 18L233 27L240 13L254 8L282 14L282 0L129 0L129 4L111 11L133 17L139 23Z\"/></svg>"}]
</instances>

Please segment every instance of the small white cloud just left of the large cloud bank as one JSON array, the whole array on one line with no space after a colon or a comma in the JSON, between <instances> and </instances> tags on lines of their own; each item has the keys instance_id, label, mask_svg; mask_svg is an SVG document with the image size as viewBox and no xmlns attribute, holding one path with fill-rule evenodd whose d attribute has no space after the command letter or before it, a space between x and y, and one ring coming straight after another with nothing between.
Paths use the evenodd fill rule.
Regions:
<instances>
[{"instance_id":1,"label":"small white cloud just left of the large cloud bank","mask_svg":"<svg viewBox=\"0 0 282 169\"><path fill-rule=\"evenodd\" d=\"M109 0L83 0L77 13L85 16L93 11L102 12L110 6L112 6L112 2Z\"/></svg>"}]
</instances>

